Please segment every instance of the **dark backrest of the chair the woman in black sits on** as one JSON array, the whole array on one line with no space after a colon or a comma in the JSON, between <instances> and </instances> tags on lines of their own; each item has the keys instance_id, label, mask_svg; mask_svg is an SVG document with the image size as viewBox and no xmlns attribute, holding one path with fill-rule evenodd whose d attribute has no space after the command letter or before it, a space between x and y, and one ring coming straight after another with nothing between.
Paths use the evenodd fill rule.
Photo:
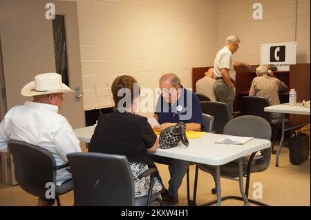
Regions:
<instances>
[{"instance_id":1,"label":"dark backrest of the chair the woman in black sits on","mask_svg":"<svg viewBox=\"0 0 311 220\"><path fill-rule=\"evenodd\" d=\"M134 181L125 156L93 152L67 154L75 206L133 206Z\"/></svg>"}]
</instances>

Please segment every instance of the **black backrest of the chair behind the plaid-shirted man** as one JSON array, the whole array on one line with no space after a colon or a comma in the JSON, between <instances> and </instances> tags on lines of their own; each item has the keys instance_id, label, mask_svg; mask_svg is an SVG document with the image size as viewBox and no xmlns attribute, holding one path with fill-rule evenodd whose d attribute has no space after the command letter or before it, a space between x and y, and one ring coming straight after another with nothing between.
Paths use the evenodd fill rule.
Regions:
<instances>
[{"instance_id":1,"label":"black backrest of the chair behind the plaid-shirted man","mask_svg":"<svg viewBox=\"0 0 311 220\"><path fill-rule=\"evenodd\" d=\"M264 108L270 106L267 99L263 97L243 97L243 114L244 115L255 115L261 117L267 122L271 121L270 112L265 112Z\"/></svg>"}]
</instances>

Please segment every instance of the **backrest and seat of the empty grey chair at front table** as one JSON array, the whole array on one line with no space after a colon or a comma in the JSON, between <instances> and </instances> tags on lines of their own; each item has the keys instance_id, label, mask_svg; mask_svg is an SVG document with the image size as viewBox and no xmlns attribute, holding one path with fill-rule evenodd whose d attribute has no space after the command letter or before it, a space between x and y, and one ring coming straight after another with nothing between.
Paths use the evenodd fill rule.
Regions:
<instances>
[{"instance_id":1,"label":"backrest and seat of the empty grey chair at front table","mask_svg":"<svg viewBox=\"0 0 311 220\"><path fill-rule=\"evenodd\" d=\"M258 139L271 139L271 126L267 121L261 117L253 115L243 115L229 121L223 129L224 134L254 137ZM271 148L261 150L262 159L258 159L252 166L252 172L260 172L270 164Z\"/></svg>"}]
</instances>

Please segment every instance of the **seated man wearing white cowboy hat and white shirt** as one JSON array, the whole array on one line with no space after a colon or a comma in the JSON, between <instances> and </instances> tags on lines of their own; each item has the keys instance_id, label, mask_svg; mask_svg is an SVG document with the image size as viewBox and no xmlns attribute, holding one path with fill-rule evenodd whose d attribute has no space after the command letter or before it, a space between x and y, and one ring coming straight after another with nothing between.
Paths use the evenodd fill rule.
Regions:
<instances>
[{"instance_id":1,"label":"seated man wearing white cowboy hat and white shirt","mask_svg":"<svg viewBox=\"0 0 311 220\"><path fill-rule=\"evenodd\" d=\"M62 106L63 93L73 92L62 83L57 73L38 74L35 81L21 89L24 97L33 97L23 106L10 109L0 123L0 152L8 151L8 140L25 141L49 150L57 166L68 162L66 154L81 152L79 140L70 124L57 111ZM56 184L60 186L71 179L64 168L57 170ZM38 206L48 206L55 199L39 198Z\"/></svg>"}]
</instances>

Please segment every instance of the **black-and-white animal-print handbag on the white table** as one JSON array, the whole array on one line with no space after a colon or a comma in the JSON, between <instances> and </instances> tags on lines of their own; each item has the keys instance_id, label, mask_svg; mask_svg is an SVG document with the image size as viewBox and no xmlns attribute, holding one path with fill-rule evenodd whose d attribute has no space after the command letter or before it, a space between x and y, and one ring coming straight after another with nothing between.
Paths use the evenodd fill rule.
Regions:
<instances>
[{"instance_id":1,"label":"black-and-white animal-print handbag on the white table","mask_svg":"<svg viewBox=\"0 0 311 220\"><path fill-rule=\"evenodd\" d=\"M186 137L186 124L180 121L175 126L169 126L162 130L160 134L160 148L169 149L177 146L182 141L185 146L189 145Z\"/></svg>"}]
</instances>

